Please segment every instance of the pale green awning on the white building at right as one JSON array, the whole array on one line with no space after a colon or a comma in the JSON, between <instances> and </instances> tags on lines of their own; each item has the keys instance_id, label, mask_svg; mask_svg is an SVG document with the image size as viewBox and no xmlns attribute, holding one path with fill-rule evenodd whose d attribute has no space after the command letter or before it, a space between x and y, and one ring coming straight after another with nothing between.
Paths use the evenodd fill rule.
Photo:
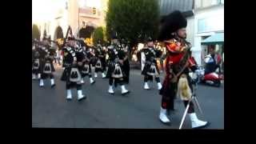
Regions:
<instances>
[{"instance_id":1,"label":"pale green awning on the white building at right","mask_svg":"<svg viewBox=\"0 0 256 144\"><path fill-rule=\"evenodd\" d=\"M224 33L217 33L201 42L202 45L216 45L224 43Z\"/></svg>"}]
</instances>

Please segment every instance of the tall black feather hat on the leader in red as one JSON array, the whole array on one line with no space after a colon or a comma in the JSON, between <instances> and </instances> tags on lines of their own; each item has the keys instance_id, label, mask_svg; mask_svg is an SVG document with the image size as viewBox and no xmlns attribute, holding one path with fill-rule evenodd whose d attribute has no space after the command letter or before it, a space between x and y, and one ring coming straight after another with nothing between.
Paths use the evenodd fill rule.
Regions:
<instances>
[{"instance_id":1,"label":"tall black feather hat on the leader in red","mask_svg":"<svg viewBox=\"0 0 256 144\"><path fill-rule=\"evenodd\" d=\"M178 29L186 27L186 18L178 10L170 13L161 20L161 30L158 35L158 40L166 40L171 38L171 33L174 33Z\"/></svg>"}]
</instances>

